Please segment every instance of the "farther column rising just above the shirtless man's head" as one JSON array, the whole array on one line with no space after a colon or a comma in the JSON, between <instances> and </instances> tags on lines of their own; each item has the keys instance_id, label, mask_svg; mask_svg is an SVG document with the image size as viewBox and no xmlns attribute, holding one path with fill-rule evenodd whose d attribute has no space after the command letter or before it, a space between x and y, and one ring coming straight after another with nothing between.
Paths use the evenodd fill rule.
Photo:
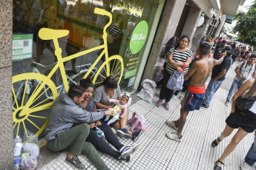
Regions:
<instances>
[{"instance_id":1,"label":"farther column rising just above the shirtless man's head","mask_svg":"<svg viewBox=\"0 0 256 170\"><path fill-rule=\"evenodd\" d=\"M209 18L206 18L206 26L209 24ZM197 27L197 30L194 33L194 37L192 38L192 46L191 46L191 50L192 51L197 51L197 47L201 41L201 39L203 38L204 35L206 35L206 28L208 27Z\"/></svg>"}]
</instances>

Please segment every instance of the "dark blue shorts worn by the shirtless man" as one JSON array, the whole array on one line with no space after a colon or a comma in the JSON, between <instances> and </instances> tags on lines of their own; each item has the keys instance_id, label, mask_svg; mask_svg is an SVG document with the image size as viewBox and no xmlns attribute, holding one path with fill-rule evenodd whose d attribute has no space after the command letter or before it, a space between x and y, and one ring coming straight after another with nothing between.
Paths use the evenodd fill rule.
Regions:
<instances>
[{"instance_id":1,"label":"dark blue shorts worn by the shirtless man","mask_svg":"<svg viewBox=\"0 0 256 170\"><path fill-rule=\"evenodd\" d=\"M194 111L194 109L199 110L203 102L205 93L196 94L192 92L186 92L183 101L181 101L181 107L187 111Z\"/></svg>"}]
</instances>

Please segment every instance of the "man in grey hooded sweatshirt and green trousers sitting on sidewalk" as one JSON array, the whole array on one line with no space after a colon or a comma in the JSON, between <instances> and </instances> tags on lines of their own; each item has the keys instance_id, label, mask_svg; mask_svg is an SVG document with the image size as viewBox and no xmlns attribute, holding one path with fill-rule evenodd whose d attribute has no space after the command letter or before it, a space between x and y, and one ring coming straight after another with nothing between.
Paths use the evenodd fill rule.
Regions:
<instances>
[{"instance_id":1,"label":"man in grey hooded sweatshirt and green trousers sitting on sidewalk","mask_svg":"<svg viewBox=\"0 0 256 170\"><path fill-rule=\"evenodd\" d=\"M47 147L53 152L68 151L66 161L78 169L85 169L77 157L79 154L85 154L97 169L108 169L94 146L85 142L90 132L90 127L86 123L96 122L104 115L111 115L112 111L87 112L79 107L84 98L85 89L73 84L68 94L62 93L54 101L45 129ZM72 127L73 123L82 124Z\"/></svg>"}]
</instances>

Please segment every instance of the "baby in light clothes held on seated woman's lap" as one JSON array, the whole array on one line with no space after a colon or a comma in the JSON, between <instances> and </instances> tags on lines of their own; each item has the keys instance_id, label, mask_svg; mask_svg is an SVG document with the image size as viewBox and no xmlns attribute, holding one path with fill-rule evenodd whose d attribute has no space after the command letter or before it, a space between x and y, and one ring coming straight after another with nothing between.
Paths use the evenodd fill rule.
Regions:
<instances>
[{"instance_id":1,"label":"baby in light clothes held on seated woman's lap","mask_svg":"<svg viewBox=\"0 0 256 170\"><path fill-rule=\"evenodd\" d=\"M116 103L116 106L113 108L113 118L108 121L110 115L107 115L105 118L105 122L108 121L107 125L113 123L114 121L118 120L118 118L125 118L125 115L127 113L127 107L128 107L128 101L129 97L128 95L122 95L120 98L120 101L117 101L116 99L108 99L108 102Z\"/></svg>"}]
</instances>

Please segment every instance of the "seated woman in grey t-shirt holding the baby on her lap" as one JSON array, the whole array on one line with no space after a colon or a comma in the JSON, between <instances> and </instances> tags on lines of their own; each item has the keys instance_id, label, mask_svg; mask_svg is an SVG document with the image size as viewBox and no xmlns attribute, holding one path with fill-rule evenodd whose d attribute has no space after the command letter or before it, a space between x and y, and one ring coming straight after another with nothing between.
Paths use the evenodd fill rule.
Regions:
<instances>
[{"instance_id":1,"label":"seated woman in grey t-shirt holding the baby on her lap","mask_svg":"<svg viewBox=\"0 0 256 170\"><path fill-rule=\"evenodd\" d=\"M96 88L93 100L95 102L96 108L99 111L105 111L107 109L111 109L114 107L114 103L108 102L109 99L120 100L121 98L121 90L119 85L117 84L117 80L112 76L105 78L105 81ZM125 118L119 118L114 123L111 123L110 126L116 129L116 135L120 137L125 137L128 139L132 139L136 141L140 135L142 135L142 130L138 132L131 132L126 129L126 124L128 120L129 111L125 115ZM103 118L104 120L105 118Z\"/></svg>"}]
</instances>

